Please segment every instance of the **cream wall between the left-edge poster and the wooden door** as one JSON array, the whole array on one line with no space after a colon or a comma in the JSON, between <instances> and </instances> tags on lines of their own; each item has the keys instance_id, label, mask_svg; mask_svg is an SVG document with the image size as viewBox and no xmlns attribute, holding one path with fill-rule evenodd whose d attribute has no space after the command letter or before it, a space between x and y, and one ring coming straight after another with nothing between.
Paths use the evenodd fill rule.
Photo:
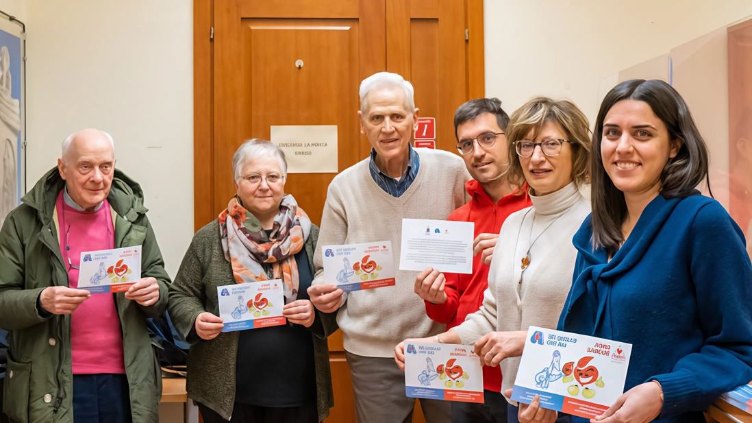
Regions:
<instances>
[{"instance_id":1,"label":"cream wall between the left-edge poster and the wooden door","mask_svg":"<svg viewBox=\"0 0 752 423\"><path fill-rule=\"evenodd\" d=\"M174 276L193 236L192 2L3 3L26 3L29 187L68 134L110 132Z\"/></svg>"}]
</instances>

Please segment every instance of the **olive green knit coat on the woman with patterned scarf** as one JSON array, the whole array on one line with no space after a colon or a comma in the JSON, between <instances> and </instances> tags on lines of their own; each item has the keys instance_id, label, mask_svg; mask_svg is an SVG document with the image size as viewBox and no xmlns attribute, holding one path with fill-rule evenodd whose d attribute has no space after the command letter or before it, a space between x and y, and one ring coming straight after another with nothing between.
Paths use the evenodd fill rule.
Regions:
<instances>
[{"instance_id":1,"label":"olive green knit coat on the woman with patterned scarf","mask_svg":"<svg viewBox=\"0 0 752 423\"><path fill-rule=\"evenodd\" d=\"M314 250L318 237L319 228L311 225L311 234L305 242L311 273L314 272ZM188 397L228 420L235 405L235 361L239 332L223 332L206 341L196 336L193 327L196 317L202 312L220 315L217 287L232 283L235 283L235 278L222 249L219 220L215 220L193 236L193 242L170 286L169 313L177 331L191 344L186 382ZM311 330L314 339L317 408L321 421L329 415L329 408L334 406L326 336L337 330L337 323L336 313L316 312L323 327L323 333Z\"/></svg>"}]
</instances>

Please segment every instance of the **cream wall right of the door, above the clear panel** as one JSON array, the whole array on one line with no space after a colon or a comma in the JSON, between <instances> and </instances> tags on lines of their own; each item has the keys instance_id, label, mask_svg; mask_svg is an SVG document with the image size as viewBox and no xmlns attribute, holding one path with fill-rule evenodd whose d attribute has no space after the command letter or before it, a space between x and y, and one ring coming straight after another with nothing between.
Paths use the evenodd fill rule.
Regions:
<instances>
[{"instance_id":1,"label":"cream wall right of the door, above the clear panel","mask_svg":"<svg viewBox=\"0 0 752 423\"><path fill-rule=\"evenodd\" d=\"M750 0L485 0L486 95L510 113L566 97L593 123L603 79L750 15Z\"/></svg>"}]
</instances>

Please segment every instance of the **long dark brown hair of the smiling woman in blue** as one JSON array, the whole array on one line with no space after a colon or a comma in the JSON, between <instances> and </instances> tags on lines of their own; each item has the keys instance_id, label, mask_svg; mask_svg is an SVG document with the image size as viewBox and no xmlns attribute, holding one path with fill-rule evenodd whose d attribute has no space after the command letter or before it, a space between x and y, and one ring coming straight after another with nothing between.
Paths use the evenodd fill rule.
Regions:
<instances>
[{"instance_id":1,"label":"long dark brown hair of the smiling woman in blue","mask_svg":"<svg viewBox=\"0 0 752 423\"><path fill-rule=\"evenodd\" d=\"M660 195L667 199L690 196L703 180L708 182L708 147L702 139L687 103L669 84L653 79L624 81L606 94L593 129L593 158L590 160L593 185L590 201L593 205L593 250L604 248L613 256L624 241L621 225L627 209L624 193L606 173L601 157L603 123L608 111L617 102L637 100L645 102L666 125L669 138L683 141L676 157L669 158L660 175ZM712 196L712 193L711 193Z\"/></svg>"}]
</instances>

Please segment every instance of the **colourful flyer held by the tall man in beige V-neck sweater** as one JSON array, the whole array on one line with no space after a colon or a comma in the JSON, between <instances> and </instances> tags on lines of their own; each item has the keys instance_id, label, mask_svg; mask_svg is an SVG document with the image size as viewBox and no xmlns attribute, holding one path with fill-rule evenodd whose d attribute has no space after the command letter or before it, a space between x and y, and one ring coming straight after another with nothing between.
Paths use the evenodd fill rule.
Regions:
<instances>
[{"instance_id":1,"label":"colourful flyer held by the tall man in beige V-neck sweater","mask_svg":"<svg viewBox=\"0 0 752 423\"><path fill-rule=\"evenodd\" d=\"M359 291L393 286L392 242L324 245L324 280L342 291Z\"/></svg>"}]
</instances>

